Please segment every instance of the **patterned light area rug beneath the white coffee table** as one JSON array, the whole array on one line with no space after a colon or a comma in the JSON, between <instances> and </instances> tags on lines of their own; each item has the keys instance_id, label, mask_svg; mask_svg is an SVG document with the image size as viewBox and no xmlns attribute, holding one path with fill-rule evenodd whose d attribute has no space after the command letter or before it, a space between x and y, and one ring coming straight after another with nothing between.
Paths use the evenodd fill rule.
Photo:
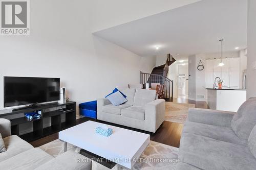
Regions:
<instances>
[{"instance_id":1,"label":"patterned light area rug beneath the white coffee table","mask_svg":"<svg viewBox=\"0 0 256 170\"><path fill-rule=\"evenodd\" d=\"M60 140L54 140L39 147L48 154L56 157L64 152L64 144ZM79 152L80 149L68 143L68 150ZM170 147L162 143L151 141L141 155L141 162L137 162L132 169L176 169L178 159L178 148ZM167 163L163 160L168 161ZM96 168L98 169L98 168ZM124 169L124 168L121 168Z\"/></svg>"}]
</instances>

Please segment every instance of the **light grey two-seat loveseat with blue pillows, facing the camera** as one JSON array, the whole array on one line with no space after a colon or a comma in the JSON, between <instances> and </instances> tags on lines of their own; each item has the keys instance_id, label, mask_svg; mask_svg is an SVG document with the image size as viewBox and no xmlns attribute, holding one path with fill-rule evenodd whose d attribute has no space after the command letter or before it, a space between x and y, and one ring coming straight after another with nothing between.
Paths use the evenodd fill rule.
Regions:
<instances>
[{"instance_id":1,"label":"light grey two-seat loveseat with blue pillows, facing the camera","mask_svg":"<svg viewBox=\"0 0 256 170\"><path fill-rule=\"evenodd\" d=\"M125 88L127 102L113 106L106 98L97 100L97 119L155 133L164 121L165 100L156 90Z\"/></svg>"}]
</instances>

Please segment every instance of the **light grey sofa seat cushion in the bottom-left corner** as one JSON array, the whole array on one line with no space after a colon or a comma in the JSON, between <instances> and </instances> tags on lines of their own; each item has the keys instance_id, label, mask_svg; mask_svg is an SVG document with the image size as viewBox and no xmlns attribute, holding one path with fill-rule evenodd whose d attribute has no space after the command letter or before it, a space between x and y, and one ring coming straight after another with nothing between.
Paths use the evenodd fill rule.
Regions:
<instances>
[{"instance_id":1,"label":"light grey sofa seat cushion in the bottom-left corner","mask_svg":"<svg viewBox=\"0 0 256 170\"><path fill-rule=\"evenodd\" d=\"M53 159L51 155L39 148L33 148L0 162L1 169L26 169L36 167Z\"/></svg>"}]
</instances>

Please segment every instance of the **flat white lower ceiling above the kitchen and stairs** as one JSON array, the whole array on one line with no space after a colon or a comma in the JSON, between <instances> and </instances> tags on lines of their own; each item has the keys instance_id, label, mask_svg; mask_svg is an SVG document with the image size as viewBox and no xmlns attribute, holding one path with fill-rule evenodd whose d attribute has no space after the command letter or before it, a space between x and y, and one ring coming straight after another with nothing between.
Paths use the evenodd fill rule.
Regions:
<instances>
[{"instance_id":1,"label":"flat white lower ceiling above the kitchen and stairs","mask_svg":"<svg viewBox=\"0 0 256 170\"><path fill-rule=\"evenodd\" d=\"M140 56L215 53L221 38L234 51L247 45L247 0L203 0L94 34Z\"/></svg>"}]
</instances>

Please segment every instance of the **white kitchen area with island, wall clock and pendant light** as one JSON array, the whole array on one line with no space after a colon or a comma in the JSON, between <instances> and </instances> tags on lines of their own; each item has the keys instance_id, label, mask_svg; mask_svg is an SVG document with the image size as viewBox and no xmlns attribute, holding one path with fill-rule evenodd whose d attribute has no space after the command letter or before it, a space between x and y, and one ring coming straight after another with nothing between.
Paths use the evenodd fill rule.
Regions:
<instances>
[{"instance_id":1,"label":"white kitchen area with island, wall clock and pendant light","mask_svg":"<svg viewBox=\"0 0 256 170\"><path fill-rule=\"evenodd\" d=\"M207 102L210 109L237 111L246 101L246 55L246 47L234 47L233 51L189 56L188 99Z\"/></svg>"}]
</instances>

